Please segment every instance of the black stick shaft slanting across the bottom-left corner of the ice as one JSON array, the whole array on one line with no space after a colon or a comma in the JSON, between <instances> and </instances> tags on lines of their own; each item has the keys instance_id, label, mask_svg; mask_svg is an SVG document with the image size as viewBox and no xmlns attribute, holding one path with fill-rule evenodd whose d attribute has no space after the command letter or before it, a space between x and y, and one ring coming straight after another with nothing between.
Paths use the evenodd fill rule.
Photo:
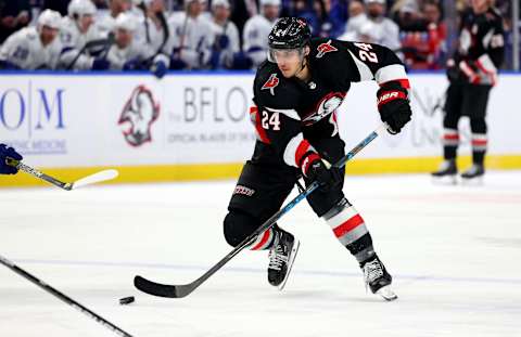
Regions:
<instances>
[{"instance_id":1,"label":"black stick shaft slanting across the bottom-left corner of the ice","mask_svg":"<svg viewBox=\"0 0 521 337\"><path fill-rule=\"evenodd\" d=\"M89 309L85 308L84 306L81 306L80 303L78 303L77 301L72 299L71 297L66 296L63 293L60 293L59 290L54 289L53 287L51 287L50 285L48 285L43 281L41 281L41 280L37 278L36 276L29 274L28 272L26 272L22 268L17 267L16 264L11 262L10 260L2 257L1 255L0 255L0 263L5 265L7 268L11 269L16 274L18 274L18 275L27 278L28 281L33 282L34 284L36 284L37 286L39 286L40 288L42 288L47 293L51 294L52 296L58 297L59 299L61 299L65 303L69 304L71 307L81 311L82 313L85 313L89 317L93 319L96 322L100 323L101 325L110 328L111 330L113 330L117 335L123 336L123 337L132 337L132 335L130 335L129 333L120 329L119 327L117 327L114 324L112 324L111 322L106 321L105 319L103 319L99 314L97 314L97 313L90 311Z\"/></svg>"}]
</instances>

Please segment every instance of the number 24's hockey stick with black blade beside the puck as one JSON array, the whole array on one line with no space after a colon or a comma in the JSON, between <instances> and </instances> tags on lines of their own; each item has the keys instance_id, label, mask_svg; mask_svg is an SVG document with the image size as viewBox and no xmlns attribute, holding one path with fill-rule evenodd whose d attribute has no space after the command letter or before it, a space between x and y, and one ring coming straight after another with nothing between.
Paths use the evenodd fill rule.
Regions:
<instances>
[{"instance_id":1,"label":"number 24's hockey stick with black blade beside the puck","mask_svg":"<svg viewBox=\"0 0 521 337\"><path fill-rule=\"evenodd\" d=\"M374 140L379 134L381 134L384 130L386 130L386 125L382 124L377 130L372 131L368 137L366 137L361 142L358 143L352 151L350 151L342 159L335 163L334 167L343 167L347 160L353 158L360 150L366 147L372 140ZM318 182L313 182L304 192L301 192L293 200L288 203L284 207L282 207L278 212L271 216L268 220L266 220L255 232L253 232L250 236L244 238L242 243L240 243L233 250L231 250L227 256L225 256L217 264L212 267L207 272L205 272L201 277L193 281L189 284L182 285L167 285L155 283L149 281L141 276L136 276L134 278L134 285L141 291L160 296L160 297L170 297L170 298L180 298L189 295L193 290L195 290L203 282L205 282L209 276L215 274L219 269L221 269L229 260L231 260L236 255L238 255L244 247L252 244L257 235L264 233L266 230L271 228L277 220L279 220L283 215L289 212L296 204L302 202L306 198L309 194L312 194L315 190L319 187Z\"/></svg>"}]
</instances>

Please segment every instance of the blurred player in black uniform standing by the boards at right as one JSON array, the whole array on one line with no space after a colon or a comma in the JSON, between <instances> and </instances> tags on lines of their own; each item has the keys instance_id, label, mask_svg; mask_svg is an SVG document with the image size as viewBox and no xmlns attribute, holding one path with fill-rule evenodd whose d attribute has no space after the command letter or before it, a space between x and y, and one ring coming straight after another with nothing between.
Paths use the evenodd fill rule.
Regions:
<instances>
[{"instance_id":1,"label":"blurred player in black uniform standing by the boards at right","mask_svg":"<svg viewBox=\"0 0 521 337\"><path fill-rule=\"evenodd\" d=\"M504 29L499 13L488 0L472 0L471 9L462 13L459 46L447 63L450 81L443 118L443 157L436 180L456 183L456 152L459 144L458 121L470 118L472 166L461 174L463 181L480 180L485 173L487 147L485 121L488 93L497 81L497 68L504 57Z\"/></svg>"}]
</instances>

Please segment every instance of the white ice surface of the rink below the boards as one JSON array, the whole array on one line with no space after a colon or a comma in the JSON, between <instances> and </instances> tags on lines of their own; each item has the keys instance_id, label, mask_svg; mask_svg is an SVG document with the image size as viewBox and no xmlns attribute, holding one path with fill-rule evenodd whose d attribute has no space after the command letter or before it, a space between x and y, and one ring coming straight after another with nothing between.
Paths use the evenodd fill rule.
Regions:
<instances>
[{"instance_id":1,"label":"white ice surface of the rink below the boards","mask_svg":"<svg viewBox=\"0 0 521 337\"><path fill-rule=\"evenodd\" d=\"M280 221L302 243L283 291L266 281L266 252L253 251L187 298L136 290L136 274L188 283L230 251L231 181L1 190L0 255L134 336L521 336L521 172L486 179L347 179L394 302L365 293L354 258L305 202ZM118 304L130 295L135 303ZM115 334L0 265L0 336Z\"/></svg>"}]
</instances>

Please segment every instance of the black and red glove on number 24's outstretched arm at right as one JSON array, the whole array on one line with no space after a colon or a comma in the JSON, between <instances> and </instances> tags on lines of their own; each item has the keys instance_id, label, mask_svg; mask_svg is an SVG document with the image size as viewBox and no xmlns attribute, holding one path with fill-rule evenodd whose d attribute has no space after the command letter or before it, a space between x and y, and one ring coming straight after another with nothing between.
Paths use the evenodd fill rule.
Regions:
<instances>
[{"instance_id":1,"label":"black and red glove on number 24's outstretched arm at right","mask_svg":"<svg viewBox=\"0 0 521 337\"><path fill-rule=\"evenodd\" d=\"M377 96L380 118L387 124L389 133L399 133L412 115L407 89L402 87L399 82L391 81L380 87Z\"/></svg>"}]
</instances>

